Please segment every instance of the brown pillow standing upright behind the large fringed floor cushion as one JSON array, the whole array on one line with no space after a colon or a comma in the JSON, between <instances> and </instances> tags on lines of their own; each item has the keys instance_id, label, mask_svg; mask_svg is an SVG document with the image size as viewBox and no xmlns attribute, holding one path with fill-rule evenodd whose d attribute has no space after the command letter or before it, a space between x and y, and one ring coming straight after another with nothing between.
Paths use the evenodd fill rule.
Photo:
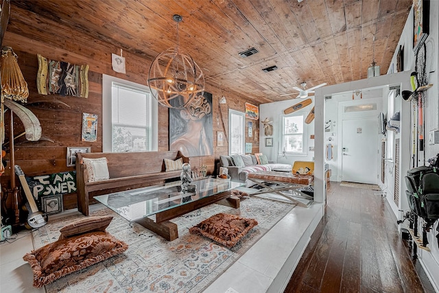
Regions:
<instances>
[{"instance_id":1,"label":"brown pillow standing upright behind the large fringed floor cushion","mask_svg":"<svg viewBox=\"0 0 439 293\"><path fill-rule=\"evenodd\" d=\"M75 235L80 235L93 231L102 231L105 232L105 229L108 227L112 220L112 216L103 216L103 217L86 217L80 220L77 220L71 224L67 224L66 226L60 228L60 239L72 237Z\"/></svg>"}]
</instances>

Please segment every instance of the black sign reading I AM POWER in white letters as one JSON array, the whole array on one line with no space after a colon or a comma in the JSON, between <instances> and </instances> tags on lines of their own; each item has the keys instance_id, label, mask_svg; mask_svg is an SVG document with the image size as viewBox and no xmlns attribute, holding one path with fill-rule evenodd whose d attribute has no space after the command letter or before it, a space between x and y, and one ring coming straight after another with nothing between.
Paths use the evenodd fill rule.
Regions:
<instances>
[{"instance_id":1,"label":"black sign reading I AM POWER in white letters","mask_svg":"<svg viewBox=\"0 0 439 293\"><path fill-rule=\"evenodd\" d=\"M36 200L42 196L76 192L76 171L40 176L26 176L27 185Z\"/></svg>"}]
</instances>

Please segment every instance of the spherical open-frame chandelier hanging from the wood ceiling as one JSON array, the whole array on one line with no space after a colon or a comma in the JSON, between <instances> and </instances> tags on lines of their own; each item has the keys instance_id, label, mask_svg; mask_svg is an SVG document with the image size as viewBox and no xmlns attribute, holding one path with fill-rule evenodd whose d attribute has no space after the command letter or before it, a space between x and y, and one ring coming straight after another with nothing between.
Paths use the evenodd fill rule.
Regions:
<instances>
[{"instance_id":1,"label":"spherical open-frame chandelier hanging from the wood ceiling","mask_svg":"<svg viewBox=\"0 0 439 293\"><path fill-rule=\"evenodd\" d=\"M174 15L174 21L182 16ZM148 73L148 86L160 104L168 108L185 108L196 95L204 93L204 75L189 54L170 48L154 59Z\"/></svg>"}]
</instances>

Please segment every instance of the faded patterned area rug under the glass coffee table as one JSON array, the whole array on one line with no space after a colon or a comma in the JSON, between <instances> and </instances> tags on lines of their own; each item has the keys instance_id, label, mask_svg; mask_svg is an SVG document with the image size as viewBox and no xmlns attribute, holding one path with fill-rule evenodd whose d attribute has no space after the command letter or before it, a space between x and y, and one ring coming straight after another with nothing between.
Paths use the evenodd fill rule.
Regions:
<instances>
[{"instance_id":1,"label":"faded patterned area rug under the glass coffee table","mask_svg":"<svg viewBox=\"0 0 439 293\"><path fill-rule=\"evenodd\" d=\"M294 207L263 198L241 201L240 209L211 204L172 220L178 224L180 237L168 242L99 205L90 215L112 215L107 231L126 242L128 250L46 285L47 292L202 292ZM189 228L216 213L254 218L259 225L233 248L189 233ZM78 213L59 220L49 218L32 233L34 248L56 241L62 226L82 217Z\"/></svg>"}]
</instances>

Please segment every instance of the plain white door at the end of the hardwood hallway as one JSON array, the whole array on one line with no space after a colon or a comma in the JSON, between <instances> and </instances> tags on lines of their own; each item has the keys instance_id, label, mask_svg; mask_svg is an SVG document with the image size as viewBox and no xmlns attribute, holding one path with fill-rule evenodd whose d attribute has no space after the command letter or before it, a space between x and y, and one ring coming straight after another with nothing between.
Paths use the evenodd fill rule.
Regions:
<instances>
[{"instance_id":1,"label":"plain white door at the end of the hardwood hallway","mask_svg":"<svg viewBox=\"0 0 439 293\"><path fill-rule=\"evenodd\" d=\"M377 119L343 120L342 141L342 180L377 184Z\"/></svg>"}]
</instances>

